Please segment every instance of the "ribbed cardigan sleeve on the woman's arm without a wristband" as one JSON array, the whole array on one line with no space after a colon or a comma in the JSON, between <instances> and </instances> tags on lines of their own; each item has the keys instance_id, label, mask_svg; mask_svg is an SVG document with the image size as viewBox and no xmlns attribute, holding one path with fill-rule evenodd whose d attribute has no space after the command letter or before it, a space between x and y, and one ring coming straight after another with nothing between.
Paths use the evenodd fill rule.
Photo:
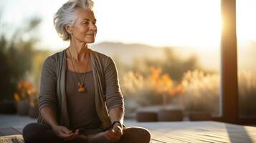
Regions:
<instances>
[{"instance_id":1,"label":"ribbed cardigan sleeve on the woman's arm without a wristband","mask_svg":"<svg viewBox=\"0 0 256 143\"><path fill-rule=\"evenodd\" d=\"M52 107L57 109L57 74L54 59L51 56L44 61L41 74L40 93L38 99L39 111L43 107Z\"/></svg>"}]
</instances>

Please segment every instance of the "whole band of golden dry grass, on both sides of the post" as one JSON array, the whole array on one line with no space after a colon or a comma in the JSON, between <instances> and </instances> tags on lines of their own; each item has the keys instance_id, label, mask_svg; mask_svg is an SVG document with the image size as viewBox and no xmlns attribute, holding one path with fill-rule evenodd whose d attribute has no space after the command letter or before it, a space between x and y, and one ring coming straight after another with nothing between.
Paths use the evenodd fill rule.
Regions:
<instances>
[{"instance_id":1,"label":"whole band of golden dry grass, on both sides of the post","mask_svg":"<svg viewBox=\"0 0 256 143\"><path fill-rule=\"evenodd\" d=\"M156 74L156 73L155 73ZM151 74L150 77L152 77ZM163 74L166 76L166 74ZM240 71L239 74L240 114L246 116L256 115L256 74L250 71ZM136 109L163 103L163 95L158 84L152 84L158 79L143 77L139 73L129 71L123 77L123 91L131 106ZM168 78L167 78L168 79ZM171 79L171 78L170 78ZM153 81L152 81L153 80ZM174 82L174 81L171 81ZM163 84L164 82L161 82ZM175 82L174 82L175 83ZM179 104L187 112L210 112L219 114L220 95L219 74L206 74L199 70L187 71L182 79L181 96L169 96L169 104ZM177 84L176 84L177 85ZM180 84L179 84L180 85ZM164 87L161 85L161 87ZM136 104L133 102L136 101ZM129 104L128 103L128 104Z\"/></svg>"}]
</instances>

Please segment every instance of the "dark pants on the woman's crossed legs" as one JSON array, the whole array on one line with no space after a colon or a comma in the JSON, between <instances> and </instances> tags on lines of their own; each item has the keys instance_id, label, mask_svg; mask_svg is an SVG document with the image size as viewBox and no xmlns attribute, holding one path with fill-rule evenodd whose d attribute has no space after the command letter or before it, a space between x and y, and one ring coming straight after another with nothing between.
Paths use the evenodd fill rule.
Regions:
<instances>
[{"instance_id":1,"label":"dark pants on the woman's crossed legs","mask_svg":"<svg viewBox=\"0 0 256 143\"><path fill-rule=\"evenodd\" d=\"M63 143L64 139L57 137L50 127L38 123L27 124L22 132L26 143ZM125 127L118 143L149 143L151 134L141 127ZM87 142L86 139L74 139L72 143Z\"/></svg>"}]
</instances>

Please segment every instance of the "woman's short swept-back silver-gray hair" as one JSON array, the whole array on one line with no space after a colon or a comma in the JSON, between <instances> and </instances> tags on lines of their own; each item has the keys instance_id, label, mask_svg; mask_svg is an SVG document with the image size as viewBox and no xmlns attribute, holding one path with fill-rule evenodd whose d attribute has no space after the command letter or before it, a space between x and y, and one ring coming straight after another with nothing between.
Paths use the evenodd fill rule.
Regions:
<instances>
[{"instance_id":1,"label":"woman's short swept-back silver-gray hair","mask_svg":"<svg viewBox=\"0 0 256 143\"><path fill-rule=\"evenodd\" d=\"M91 9L93 10L92 0L69 0L63 4L60 9L54 14L53 24L57 31L57 34L64 40L70 40L71 36L66 31L65 26L68 24L73 26L75 20L77 19L77 14L75 14L75 9Z\"/></svg>"}]
</instances>

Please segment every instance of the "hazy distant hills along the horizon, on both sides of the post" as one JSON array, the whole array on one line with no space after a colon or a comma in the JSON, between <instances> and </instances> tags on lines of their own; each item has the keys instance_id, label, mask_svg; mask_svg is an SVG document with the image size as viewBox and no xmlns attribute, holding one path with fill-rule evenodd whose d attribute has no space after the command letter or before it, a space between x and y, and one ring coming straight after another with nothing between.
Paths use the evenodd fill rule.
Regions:
<instances>
[{"instance_id":1,"label":"hazy distant hills along the horizon, on both sides of the post","mask_svg":"<svg viewBox=\"0 0 256 143\"><path fill-rule=\"evenodd\" d=\"M256 42L247 42L247 44L238 45L238 63L242 69L255 69L256 61ZM114 42L103 42L100 44L92 44L90 47L96 51L111 57L118 57L125 64L131 64L133 59L139 57L150 57L152 59L161 59L164 57L163 47L148 46L145 44L123 44ZM199 58L199 64L205 69L219 70L220 68L220 49L202 49L196 51L191 47L169 47L173 49L176 56L187 58L192 54Z\"/></svg>"}]
</instances>

